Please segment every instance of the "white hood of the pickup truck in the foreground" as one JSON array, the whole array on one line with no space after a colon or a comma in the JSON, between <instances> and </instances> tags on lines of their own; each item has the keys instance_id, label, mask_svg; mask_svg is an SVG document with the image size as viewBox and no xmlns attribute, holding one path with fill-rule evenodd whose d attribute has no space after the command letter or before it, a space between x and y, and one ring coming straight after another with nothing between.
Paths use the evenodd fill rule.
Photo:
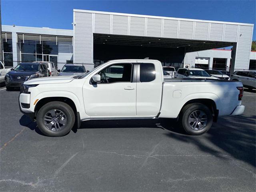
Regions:
<instances>
[{"instance_id":1,"label":"white hood of the pickup truck in the foreground","mask_svg":"<svg viewBox=\"0 0 256 192\"><path fill-rule=\"evenodd\" d=\"M68 83L74 80L72 77L62 77L62 76L57 76L57 77L41 77L41 78L34 78L31 80L28 80L24 82L26 85L32 85L32 84L53 84L53 83Z\"/></svg>"}]
</instances>

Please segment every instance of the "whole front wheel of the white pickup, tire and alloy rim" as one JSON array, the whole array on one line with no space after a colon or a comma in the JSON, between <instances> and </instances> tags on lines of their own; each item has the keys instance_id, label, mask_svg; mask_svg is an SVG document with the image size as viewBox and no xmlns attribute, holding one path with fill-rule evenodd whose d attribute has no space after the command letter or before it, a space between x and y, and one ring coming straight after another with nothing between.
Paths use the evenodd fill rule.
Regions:
<instances>
[{"instance_id":1,"label":"whole front wheel of the white pickup, tire and alloy rim","mask_svg":"<svg viewBox=\"0 0 256 192\"><path fill-rule=\"evenodd\" d=\"M74 126L75 115L72 108L64 102L49 102L38 111L36 122L39 130L46 136L64 136Z\"/></svg>"}]
</instances>

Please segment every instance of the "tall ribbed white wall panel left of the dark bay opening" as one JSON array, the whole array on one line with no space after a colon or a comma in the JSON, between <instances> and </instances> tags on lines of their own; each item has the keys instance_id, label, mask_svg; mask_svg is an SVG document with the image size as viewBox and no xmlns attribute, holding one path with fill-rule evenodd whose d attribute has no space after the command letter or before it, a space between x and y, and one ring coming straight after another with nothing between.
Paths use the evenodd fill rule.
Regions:
<instances>
[{"instance_id":1,"label":"tall ribbed white wall panel left of the dark bay opening","mask_svg":"<svg viewBox=\"0 0 256 192\"><path fill-rule=\"evenodd\" d=\"M74 62L92 63L92 14L75 12Z\"/></svg>"}]
</instances>

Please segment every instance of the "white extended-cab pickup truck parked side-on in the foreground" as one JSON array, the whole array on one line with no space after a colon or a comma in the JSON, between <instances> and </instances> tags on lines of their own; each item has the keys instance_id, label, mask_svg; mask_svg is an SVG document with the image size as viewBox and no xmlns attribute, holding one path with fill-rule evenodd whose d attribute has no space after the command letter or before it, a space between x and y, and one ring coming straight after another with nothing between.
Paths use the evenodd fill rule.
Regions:
<instances>
[{"instance_id":1,"label":"white extended-cab pickup truck parked side-on in the foreground","mask_svg":"<svg viewBox=\"0 0 256 192\"><path fill-rule=\"evenodd\" d=\"M164 80L158 60L112 60L80 77L28 80L19 105L47 136L63 136L85 120L132 118L176 118L200 135L218 116L242 114L242 94L241 82Z\"/></svg>"}]
</instances>

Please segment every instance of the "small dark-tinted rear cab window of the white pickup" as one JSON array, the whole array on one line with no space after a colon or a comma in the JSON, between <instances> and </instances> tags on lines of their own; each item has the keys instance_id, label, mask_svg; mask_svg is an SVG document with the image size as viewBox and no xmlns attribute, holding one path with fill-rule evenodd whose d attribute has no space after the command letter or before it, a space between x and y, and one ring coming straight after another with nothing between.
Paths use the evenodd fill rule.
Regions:
<instances>
[{"instance_id":1,"label":"small dark-tinted rear cab window of the white pickup","mask_svg":"<svg viewBox=\"0 0 256 192\"><path fill-rule=\"evenodd\" d=\"M140 64L140 82L150 82L155 80L156 70L155 65L152 63Z\"/></svg>"}]
</instances>

